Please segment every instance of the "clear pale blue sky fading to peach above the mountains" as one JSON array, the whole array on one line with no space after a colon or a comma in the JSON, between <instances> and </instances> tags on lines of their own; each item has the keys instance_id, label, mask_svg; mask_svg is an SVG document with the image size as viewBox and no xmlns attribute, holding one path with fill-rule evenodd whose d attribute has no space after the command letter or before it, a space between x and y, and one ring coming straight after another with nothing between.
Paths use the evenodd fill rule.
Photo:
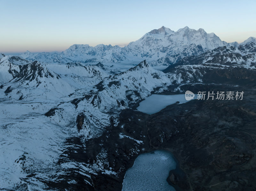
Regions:
<instances>
[{"instance_id":1,"label":"clear pale blue sky fading to peach above the mountains","mask_svg":"<svg viewBox=\"0 0 256 191\"><path fill-rule=\"evenodd\" d=\"M227 42L256 37L256 1L0 0L0 52L126 44L168 27L203 28Z\"/></svg>"}]
</instances>

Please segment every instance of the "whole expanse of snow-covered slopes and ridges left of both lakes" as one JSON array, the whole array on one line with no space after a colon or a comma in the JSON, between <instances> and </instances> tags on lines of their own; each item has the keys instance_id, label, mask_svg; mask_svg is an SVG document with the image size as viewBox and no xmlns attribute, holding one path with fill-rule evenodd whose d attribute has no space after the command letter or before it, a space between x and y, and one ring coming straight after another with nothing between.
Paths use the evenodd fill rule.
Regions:
<instances>
[{"instance_id":1,"label":"whole expanse of snow-covered slopes and ridges left of both lakes","mask_svg":"<svg viewBox=\"0 0 256 191\"><path fill-rule=\"evenodd\" d=\"M14 63L17 60L22 63ZM122 109L175 78L146 61L109 75L101 63L41 64L2 55L0 69L8 74L0 88L0 143L4 145L0 185L15 190L45 189L44 182L59 182L58 177L73 167L68 158L58 163L67 147L75 146L65 143L68 137L84 141L99 137L108 126L117 124ZM98 174L106 165L101 154L96 154L100 166L97 162L76 165Z\"/></svg>"}]
</instances>

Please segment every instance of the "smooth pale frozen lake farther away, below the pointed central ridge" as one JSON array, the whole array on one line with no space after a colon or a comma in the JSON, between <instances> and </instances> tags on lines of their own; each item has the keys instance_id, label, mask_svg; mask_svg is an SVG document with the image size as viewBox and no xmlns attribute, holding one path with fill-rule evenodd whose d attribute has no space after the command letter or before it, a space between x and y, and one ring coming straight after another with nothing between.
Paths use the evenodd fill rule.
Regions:
<instances>
[{"instance_id":1,"label":"smooth pale frozen lake farther away, below the pointed central ridge","mask_svg":"<svg viewBox=\"0 0 256 191\"><path fill-rule=\"evenodd\" d=\"M195 94L194 99L196 99L197 94ZM185 94L177 94L177 95L158 95L152 94L148 96L145 100L140 102L140 106L137 109L146 114L155 114L165 107L176 103L177 101L181 103L188 102L185 99Z\"/></svg>"}]
</instances>

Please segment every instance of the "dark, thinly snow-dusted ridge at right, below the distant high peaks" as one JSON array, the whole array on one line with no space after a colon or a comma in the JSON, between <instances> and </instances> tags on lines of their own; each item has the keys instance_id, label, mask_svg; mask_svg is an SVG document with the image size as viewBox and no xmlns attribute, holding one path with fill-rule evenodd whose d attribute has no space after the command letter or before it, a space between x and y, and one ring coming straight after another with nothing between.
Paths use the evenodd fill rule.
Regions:
<instances>
[{"instance_id":1,"label":"dark, thinly snow-dusted ridge at right, below the distant high peaks","mask_svg":"<svg viewBox=\"0 0 256 191\"><path fill-rule=\"evenodd\" d=\"M183 82L238 83L246 85L255 80L256 45L219 47L202 55L189 56L167 67L165 73L179 73ZM248 69L248 70L247 70Z\"/></svg>"}]
</instances>

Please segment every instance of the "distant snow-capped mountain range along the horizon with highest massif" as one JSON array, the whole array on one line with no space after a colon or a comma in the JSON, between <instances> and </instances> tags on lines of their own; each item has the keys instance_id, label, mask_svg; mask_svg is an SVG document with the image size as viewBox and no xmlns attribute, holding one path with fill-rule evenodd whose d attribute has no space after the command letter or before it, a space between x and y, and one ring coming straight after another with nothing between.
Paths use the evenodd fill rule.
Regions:
<instances>
[{"instance_id":1,"label":"distant snow-capped mountain range along the horizon with highest massif","mask_svg":"<svg viewBox=\"0 0 256 191\"><path fill-rule=\"evenodd\" d=\"M250 37L241 45L255 42ZM200 55L207 50L221 46L238 47L237 42L227 43L221 41L214 33L206 33L204 29L190 29L187 26L174 32L162 26L146 33L135 42L130 42L126 47L74 44L64 52L58 53L30 53L26 51L20 56L28 60L41 62L141 62L146 59L151 65L170 65L186 56Z\"/></svg>"}]
</instances>

